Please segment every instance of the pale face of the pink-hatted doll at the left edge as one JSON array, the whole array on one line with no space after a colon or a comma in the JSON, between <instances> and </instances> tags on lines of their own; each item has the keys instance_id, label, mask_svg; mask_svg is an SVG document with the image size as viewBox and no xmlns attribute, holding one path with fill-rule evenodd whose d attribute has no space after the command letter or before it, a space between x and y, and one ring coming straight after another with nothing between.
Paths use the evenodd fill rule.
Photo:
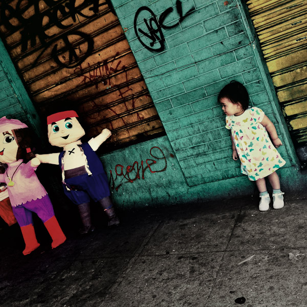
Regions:
<instances>
[{"instance_id":1,"label":"pale face of the pink-hatted doll at the left edge","mask_svg":"<svg viewBox=\"0 0 307 307\"><path fill-rule=\"evenodd\" d=\"M12 130L0 133L0 162L12 163L17 161L18 145Z\"/></svg>"}]
</instances>

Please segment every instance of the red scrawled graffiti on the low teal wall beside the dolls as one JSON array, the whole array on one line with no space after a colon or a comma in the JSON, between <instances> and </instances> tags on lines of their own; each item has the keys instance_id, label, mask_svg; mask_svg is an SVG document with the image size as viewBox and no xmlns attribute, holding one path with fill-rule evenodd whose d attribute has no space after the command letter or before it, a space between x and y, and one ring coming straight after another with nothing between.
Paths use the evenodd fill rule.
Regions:
<instances>
[{"instance_id":1,"label":"red scrawled graffiti on the low teal wall beside the dolls","mask_svg":"<svg viewBox=\"0 0 307 307\"><path fill-rule=\"evenodd\" d=\"M146 170L149 170L150 173L165 171L167 168L167 161L162 149L157 146L151 147L149 154L151 157L146 159L145 162L144 160L140 163L135 161L132 165L126 167L117 164L114 169L115 175L110 169L109 185L111 188L118 191L118 189L125 183L133 183L136 180L141 179L144 180ZM155 165L155 167L153 167L153 165Z\"/></svg>"}]
</instances>

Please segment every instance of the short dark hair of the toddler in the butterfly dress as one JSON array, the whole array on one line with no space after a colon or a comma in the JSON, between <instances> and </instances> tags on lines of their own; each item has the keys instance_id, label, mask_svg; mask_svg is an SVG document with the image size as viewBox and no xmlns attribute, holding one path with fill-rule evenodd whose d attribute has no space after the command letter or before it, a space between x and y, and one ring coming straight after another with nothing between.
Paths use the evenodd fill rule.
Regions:
<instances>
[{"instance_id":1,"label":"short dark hair of the toddler in the butterfly dress","mask_svg":"<svg viewBox=\"0 0 307 307\"><path fill-rule=\"evenodd\" d=\"M229 99L232 103L240 103L244 111L248 108L249 96L245 86L238 81L231 81L223 87L218 94L217 101L221 102L222 98Z\"/></svg>"}]
</instances>

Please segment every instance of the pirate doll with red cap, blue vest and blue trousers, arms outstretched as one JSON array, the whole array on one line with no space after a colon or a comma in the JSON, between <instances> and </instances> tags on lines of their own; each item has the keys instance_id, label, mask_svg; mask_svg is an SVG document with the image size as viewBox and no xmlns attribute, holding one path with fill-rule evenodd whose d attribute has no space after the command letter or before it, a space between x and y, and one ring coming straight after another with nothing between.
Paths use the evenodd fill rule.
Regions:
<instances>
[{"instance_id":1,"label":"pirate doll with red cap, blue vest and blue trousers, arms outstretched","mask_svg":"<svg viewBox=\"0 0 307 307\"><path fill-rule=\"evenodd\" d=\"M75 111L58 112L47 117L48 139L53 146L63 147L60 153L36 155L42 163L59 165L65 195L78 206L83 224L80 234L94 230L91 222L90 201L98 202L108 217L108 226L118 225L110 198L108 180L102 163L96 154L99 146L111 136L103 129L89 142L82 143L85 131L77 120Z\"/></svg>"}]
</instances>

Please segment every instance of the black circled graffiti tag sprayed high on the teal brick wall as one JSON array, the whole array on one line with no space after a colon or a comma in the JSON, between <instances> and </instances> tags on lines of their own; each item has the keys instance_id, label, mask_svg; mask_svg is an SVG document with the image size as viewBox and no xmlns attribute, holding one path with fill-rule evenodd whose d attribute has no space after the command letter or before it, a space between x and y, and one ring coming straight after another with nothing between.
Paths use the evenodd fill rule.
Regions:
<instances>
[{"instance_id":1,"label":"black circled graffiti tag sprayed high on the teal brick wall","mask_svg":"<svg viewBox=\"0 0 307 307\"><path fill-rule=\"evenodd\" d=\"M135 15L135 19L134 19L134 29L135 29L135 33L137 35L138 40L140 41L140 43L148 50L150 51L156 51L156 52L160 52L164 50L164 35L162 32L162 29L171 29L174 27L177 27L179 25L179 23L184 20L191 12L193 12L195 10L195 8L191 8L185 15L183 15L182 12L182 4L180 0L177 0L176 2L176 9L177 9L177 13L179 14L179 21L176 24L170 25L170 26L166 26L164 25L164 21L166 19L166 17L173 12L173 8L169 7L168 9L166 9L159 17L159 19L157 18L157 16L155 15L155 13L153 13L153 11L145 6L140 7ZM139 16L141 15L141 13L146 14L145 12L147 12L150 14L149 19L147 18L143 18L144 24L145 24L145 30L138 28L138 24L141 22L141 20L139 20ZM145 40L142 40L142 38L140 37L140 34L144 35ZM146 38L148 38L148 40L150 40L149 46L148 46L148 42L146 41Z\"/></svg>"}]
</instances>

